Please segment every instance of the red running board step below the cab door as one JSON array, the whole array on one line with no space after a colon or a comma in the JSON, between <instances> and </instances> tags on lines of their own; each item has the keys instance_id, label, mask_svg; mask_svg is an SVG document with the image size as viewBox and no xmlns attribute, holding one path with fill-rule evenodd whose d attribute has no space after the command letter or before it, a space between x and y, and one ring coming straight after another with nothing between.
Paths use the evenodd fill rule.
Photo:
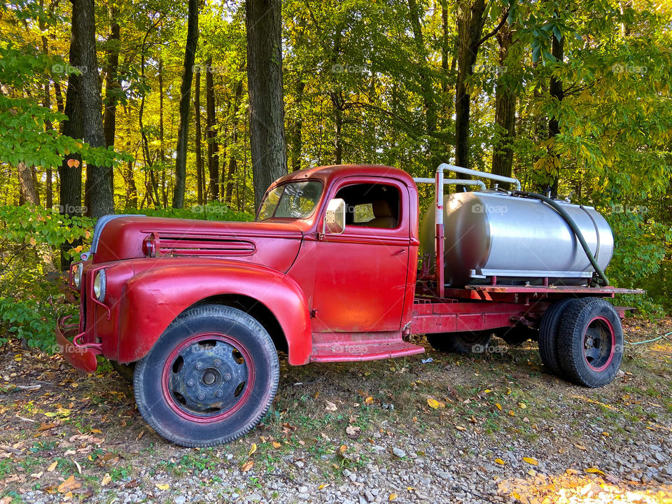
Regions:
<instances>
[{"instance_id":1,"label":"red running board step below the cab door","mask_svg":"<svg viewBox=\"0 0 672 504\"><path fill-rule=\"evenodd\" d=\"M423 353L423 346L405 342L400 332L314 333L310 362L354 362Z\"/></svg>"}]
</instances>

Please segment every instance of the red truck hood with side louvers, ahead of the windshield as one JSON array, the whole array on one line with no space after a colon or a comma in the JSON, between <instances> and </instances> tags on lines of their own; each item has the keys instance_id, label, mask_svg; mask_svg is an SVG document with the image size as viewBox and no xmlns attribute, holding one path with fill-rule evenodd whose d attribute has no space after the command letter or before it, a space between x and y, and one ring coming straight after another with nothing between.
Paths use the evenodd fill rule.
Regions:
<instances>
[{"instance_id":1,"label":"red truck hood with side louvers, ahead of the windshield","mask_svg":"<svg viewBox=\"0 0 672 504\"><path fill-rule=\"evenodd\" d=\"M157 255L222 258L262 264L286 272L303 234L293 222L218 222L145 216L104 216L91 244L93 262L144 258L143 241L153 237Z\"/></svg>"}]
</instances>

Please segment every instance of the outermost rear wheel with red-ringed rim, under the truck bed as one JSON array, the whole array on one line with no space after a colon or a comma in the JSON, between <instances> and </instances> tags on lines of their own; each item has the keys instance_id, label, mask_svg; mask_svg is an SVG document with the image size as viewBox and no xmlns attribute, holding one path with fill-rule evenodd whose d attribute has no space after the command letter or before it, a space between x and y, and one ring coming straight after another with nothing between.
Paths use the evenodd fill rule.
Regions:
<instances>
[{"instance_id":1,"label":"outermost rear wheel with red-ringed rim, under the truck bed","mask_svg":"<svg viewBox=\"0 0 672 504\"><path fill-rule=\"evenodd\" d=\"M623 358L621 319L612 304L596 298L570 304L561 318L558 352L567 379L591 388L610 383Z\"/></svg>"}]
</instances>

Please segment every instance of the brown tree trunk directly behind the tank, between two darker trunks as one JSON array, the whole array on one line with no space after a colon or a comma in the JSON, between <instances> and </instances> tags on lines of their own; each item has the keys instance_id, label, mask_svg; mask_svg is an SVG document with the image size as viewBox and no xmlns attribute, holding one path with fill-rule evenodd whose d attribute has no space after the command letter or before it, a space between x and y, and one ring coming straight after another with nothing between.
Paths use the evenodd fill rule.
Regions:
<instances>
[{"instance_id":1,"label":"brown tree trunk directly behind the tank, between two darker trunks","mask_svg":"<svg viewBox=\"0 0 672 504\"><path fill-rule=\"evenodd\" d=\"M499 43L499 64L501 72L495 90L495 127L496 141L493 144L492 173L510 177L513 169L512 141L516 133L516 95L512 89L512 75L503 71L507 66L507 57L511 47L513 32L503 27L497 34ZM509 184L500 183L504 189Z\"/></svg>"}]
</instances>

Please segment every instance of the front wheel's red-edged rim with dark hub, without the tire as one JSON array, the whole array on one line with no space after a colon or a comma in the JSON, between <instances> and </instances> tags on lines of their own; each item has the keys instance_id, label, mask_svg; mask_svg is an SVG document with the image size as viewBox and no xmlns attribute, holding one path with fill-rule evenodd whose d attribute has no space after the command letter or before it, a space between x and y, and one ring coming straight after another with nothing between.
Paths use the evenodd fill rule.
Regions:
<instances>
[{"instance_id":1,"label":"front wheel's red-edged rim with dark hub, without the tire","mask_svg":"<svg viewBox=\"0 0 672 504\"><path fill-rule=\"evenodd\" d=\"M254 362L246 347L234 337L215 332L189 337L176 346L161 377L169 407L197 423L213 423L235 414L250 397L254 381ZM241 391L231 397L239 386Z\"/></svg>"}]
</instances>

